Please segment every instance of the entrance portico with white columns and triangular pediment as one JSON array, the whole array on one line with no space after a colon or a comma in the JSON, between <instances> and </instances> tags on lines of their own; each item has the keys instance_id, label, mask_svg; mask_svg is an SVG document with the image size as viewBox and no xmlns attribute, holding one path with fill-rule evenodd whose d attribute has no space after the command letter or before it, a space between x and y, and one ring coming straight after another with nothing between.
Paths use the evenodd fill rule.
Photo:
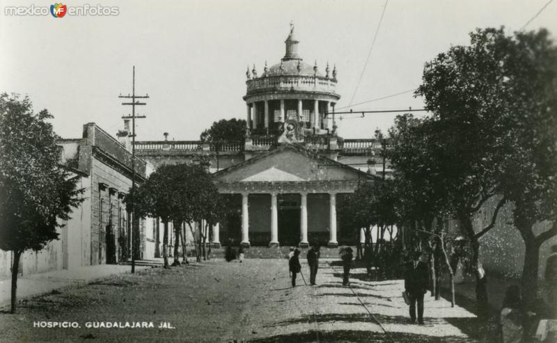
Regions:
<instances>
[{"instance_id":1,"label":"entrance portico with white columns and triangular pediment","mask_svg":"<svg viewBox=\"0 0 557 343\"><path fill-rule=\"evenodd\" d=\"M372 180L297 145L281 145L214 176L219 193L241 197L242 246L338 246L339 196Z\"/></svg>"}]
</instances>

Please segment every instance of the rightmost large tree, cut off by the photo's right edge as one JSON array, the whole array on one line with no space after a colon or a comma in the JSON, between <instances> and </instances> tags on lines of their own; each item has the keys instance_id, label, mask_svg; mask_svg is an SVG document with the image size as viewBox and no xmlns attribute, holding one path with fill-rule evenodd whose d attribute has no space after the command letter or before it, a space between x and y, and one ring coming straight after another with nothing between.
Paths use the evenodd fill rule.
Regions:
<instances>
[{"instance_id":1,"label":"rightmost large tree, cut off by the photo's right edge","mask_svg":"<svg viewBox=\"0 0 557 343\"><path fill-rule=\"evenodd\" d=\"M502 37L508 54L501 74L508 111L504 136L501 193L514 205L513 221L524 239L522 292L527 303L538 293L540 246L557 234L557 47L549 33ZM536 232L534 225L546 223Z\"/></svg>"}]
</instances>

